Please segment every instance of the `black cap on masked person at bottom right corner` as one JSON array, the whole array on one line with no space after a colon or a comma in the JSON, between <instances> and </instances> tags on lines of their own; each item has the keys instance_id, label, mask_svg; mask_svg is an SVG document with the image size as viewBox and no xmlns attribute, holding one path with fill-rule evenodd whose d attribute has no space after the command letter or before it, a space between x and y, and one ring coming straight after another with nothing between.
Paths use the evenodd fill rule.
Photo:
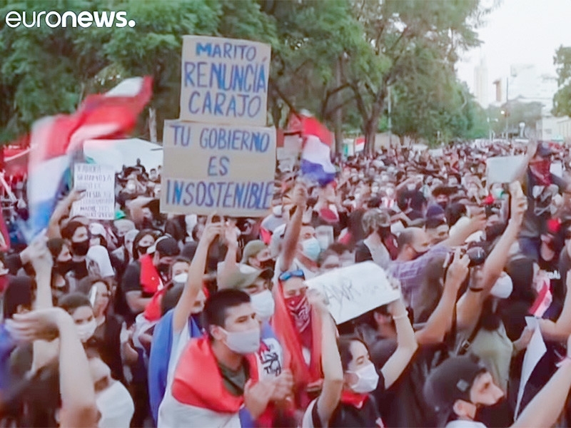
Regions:
<instances>
[{"instance_id":1,"label":"black cap on masked person at bottom right corner","mask_svg":"<svg viewBox=\"0 0 571 428\"><path fill-rule=\"evenodd\" d=\"M445 360L426 379L423 393L427 404L438 413L450 414L457 399L470 402L476 377L486 371L474 355Z\"/></svg>"}]
</instances>

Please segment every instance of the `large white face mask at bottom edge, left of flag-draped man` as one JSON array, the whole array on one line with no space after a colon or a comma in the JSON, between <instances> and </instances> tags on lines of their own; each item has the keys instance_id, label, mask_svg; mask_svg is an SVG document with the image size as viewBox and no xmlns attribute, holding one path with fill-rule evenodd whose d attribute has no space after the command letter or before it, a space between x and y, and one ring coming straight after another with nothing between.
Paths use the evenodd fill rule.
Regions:
<instances>
[{"instance_id":1,"label":"large white face mask at bottom edge, left of flag-draped man","mask_svg":"<svg viewBox=\"0 0 571 428\"><path fill-rule=\"evenodd\" d=\"M131 424L135 405L121 382L113 382L111 387L99 392L95 401L101 413L98 428L128 427Z\"/></svg>"}]
</instances>

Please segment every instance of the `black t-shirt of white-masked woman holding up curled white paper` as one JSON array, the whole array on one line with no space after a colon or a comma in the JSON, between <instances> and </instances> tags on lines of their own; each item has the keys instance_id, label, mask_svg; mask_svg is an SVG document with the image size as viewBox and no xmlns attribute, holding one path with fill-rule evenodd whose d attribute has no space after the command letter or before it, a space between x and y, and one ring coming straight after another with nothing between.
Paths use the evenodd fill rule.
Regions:
<instances>
[{"instance_id":1,"label":"black t-shirt of white-masked woman holding up curled white paper","mask_svg":"<svg viewBox=\"0 0 571 428\"><path fill-rule=\"evenodd\" d=\"M385 378L383 373L379 372L379 383L375 394L379 394L385 391ZM311 424L313 427L322 427L321 419L318 414L317 400L310 404L313 406L311 409ZM352 404L345 404L340 402L333 412L331 419L329 421L328 427L335 428L351 428L351 427L384 427L382 419L380 418L380 413L378 411L378 405L373 395L369 394L363 407L359 409Z\"/></svg>"}]
</instances>

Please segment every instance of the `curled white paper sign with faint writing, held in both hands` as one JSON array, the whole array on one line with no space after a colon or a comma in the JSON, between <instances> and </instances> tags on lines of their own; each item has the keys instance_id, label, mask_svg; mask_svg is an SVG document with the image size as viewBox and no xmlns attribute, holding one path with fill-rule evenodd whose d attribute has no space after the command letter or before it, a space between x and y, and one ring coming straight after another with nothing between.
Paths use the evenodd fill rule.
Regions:
<instances>
[{"instance_id":1,"label":"curled white paper sign with faint writing, held in both hands","mask_svg":"<svg viewBox=\"0 0 571 428\"><path fill-rule=\"evenodd\" d=\"M373 262L331 270L305 283L325 295L338 325L400 297L400 290L390 285L385 270Z\"/></svg>"}]
</instances>

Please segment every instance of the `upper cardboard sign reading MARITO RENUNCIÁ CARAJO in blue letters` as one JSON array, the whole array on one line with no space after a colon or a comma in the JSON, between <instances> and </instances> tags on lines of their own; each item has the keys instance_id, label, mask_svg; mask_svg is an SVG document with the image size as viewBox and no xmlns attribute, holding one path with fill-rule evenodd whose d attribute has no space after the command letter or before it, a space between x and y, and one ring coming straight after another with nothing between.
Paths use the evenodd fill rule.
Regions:
<instances>
[{"instance_id":1,"label":"upper cardboard sign reading MARITO RENUNCI\u00c1 CARAJO in blue letters","mask_svg":"<svg viewBox=\"0 0 571 428\"><path fill-rule=\"evenodd\" d=\"M266 125L271 46L183 36L181 120Z\"/></svg>"}]
</instances>

